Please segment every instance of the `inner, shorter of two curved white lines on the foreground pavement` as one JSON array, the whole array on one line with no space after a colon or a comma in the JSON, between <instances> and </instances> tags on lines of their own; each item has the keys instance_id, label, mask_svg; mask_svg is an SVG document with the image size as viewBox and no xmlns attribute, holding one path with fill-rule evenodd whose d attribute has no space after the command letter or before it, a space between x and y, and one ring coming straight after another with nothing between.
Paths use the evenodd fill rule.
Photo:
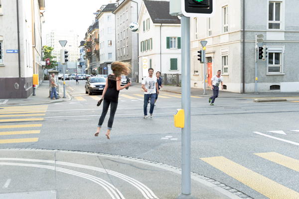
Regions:
<instances>
[{"instance_id":1,"label":"inner, shorter of two curved white lines on the foreground pavement","mask_svg":"<svg viewBox=\"0 0 299 199\"><path fill-rule=\"evenodd\" d=\"M113 185L108 183L107 181L102 180L100 178L97 178L95 176L91 176L91 175L88 175L88 174L81 173L81 172L76 172L76 171L72 171L72 170L64 169L64 168L60 168L60 167L53 167L53 166L47 166L47 165L36 165L36 164L0 162L0 165L35 167L35 168L42 168L42 169L50 169L50 170L54 170L54 171L60 171L62 173L71 174L71 175L78 176L78 177L81 177L81 178L85 178L87 180L90 180L90 181L93 181L93 182L97 183L98 185L102 186L108 192L108 194L111 196L112 199L125 199L125 197L121 194L121 192L118 189L116 189L116 187L114 187ZM118 194L114 190L116 190L118 192Z\"/></svg>"}]
</instances>

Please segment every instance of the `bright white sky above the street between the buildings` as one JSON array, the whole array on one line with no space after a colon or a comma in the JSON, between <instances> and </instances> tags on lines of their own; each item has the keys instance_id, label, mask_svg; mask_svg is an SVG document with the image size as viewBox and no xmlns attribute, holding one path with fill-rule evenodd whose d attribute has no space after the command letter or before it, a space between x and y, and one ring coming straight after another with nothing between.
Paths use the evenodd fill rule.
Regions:
<instances>
[{"instance_id":1,"label":"bright white sky above the street between the buildings","mask_svg":"<svg viewBox=\"0 0 299 199\"><path fill-rule=\"evenodd\" d=\"M102 5L116 0L45 0L42 24L43 45L46 45L46 34L52 30L73 30L79 35L78 42L84 40L87 28L95 20L96 12Z\"/></svg>"}]
</instances>

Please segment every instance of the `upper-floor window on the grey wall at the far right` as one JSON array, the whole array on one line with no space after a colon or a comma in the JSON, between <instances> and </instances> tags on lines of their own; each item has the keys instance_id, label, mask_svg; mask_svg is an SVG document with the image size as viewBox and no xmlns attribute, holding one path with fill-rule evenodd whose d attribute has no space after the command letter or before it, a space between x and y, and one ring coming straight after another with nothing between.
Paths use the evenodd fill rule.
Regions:
<instances>
[{"instance_id":1,"label":"upper-floor window on the grey wall at the far right","mask_svg":"<svg viewBox=\"0 0 299 199\"><path fill-rule=\"evenodd\" d=\"M281 2L269 2L269 29L281 29Z\"/></svg>"}]
</instances>

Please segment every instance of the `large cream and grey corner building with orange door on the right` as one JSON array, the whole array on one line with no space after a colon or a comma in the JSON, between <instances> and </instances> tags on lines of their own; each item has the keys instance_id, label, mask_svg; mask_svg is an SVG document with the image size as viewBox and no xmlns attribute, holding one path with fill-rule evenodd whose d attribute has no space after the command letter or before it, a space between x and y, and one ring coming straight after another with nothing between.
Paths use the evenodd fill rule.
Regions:
<instances>
[{"instance_id":1,"label":"large cream and grey corner building with orange door on the right","mask_svg":"<svg viewBox=\"0 0 299 199\"><path fill-rule=\"evenodd\" d=\"M298 92L299 75L294 73L299 47L297 5L296 0L251 0L244 5L242 1L217 0L212 18L191 18L191 86L203 88L206 76L205 86L210 88L211 77L221 70L224 91L254 93L257 78L259 93ZM264 35L258 46L267 47L268 57L257 60L256 76L258 34ZM200 40L207 41L206 66L197 61Z\"/></svg>"}]
</instances>

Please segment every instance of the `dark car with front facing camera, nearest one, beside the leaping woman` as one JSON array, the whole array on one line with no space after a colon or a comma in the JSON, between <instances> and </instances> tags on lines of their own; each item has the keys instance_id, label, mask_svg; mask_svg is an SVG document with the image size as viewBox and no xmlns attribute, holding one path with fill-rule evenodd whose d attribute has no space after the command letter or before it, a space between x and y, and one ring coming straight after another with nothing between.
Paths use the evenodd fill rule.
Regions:
<instances>
[{"instance_id":1,"label":"dark car with front facing camera, nearest one, beside the leaping woman","mask_svg":"<svg viewBox=\"0 0 299 199\"><path fill-rule=\"evenodd\" d=\"M103 93L106 86L106 79L103 77L89 77L85 84L85 93L92 95L93 93Z\"/></svg>"}]
</instances>

